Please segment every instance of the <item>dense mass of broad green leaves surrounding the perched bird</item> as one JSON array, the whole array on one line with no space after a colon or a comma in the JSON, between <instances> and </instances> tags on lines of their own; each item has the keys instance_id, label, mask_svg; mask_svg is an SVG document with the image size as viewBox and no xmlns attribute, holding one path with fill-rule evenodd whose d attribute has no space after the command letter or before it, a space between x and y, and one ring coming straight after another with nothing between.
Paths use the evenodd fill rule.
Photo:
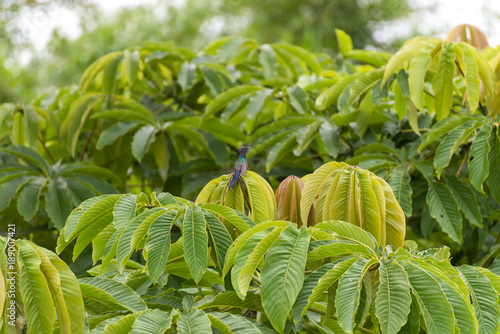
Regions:
<instances>
[{"instance_id":1,"label":"dense mass of broad green leaves surrounding the perched bird","mask_svg":"<svg viewBox=\"0 0 500 334\"><path fill-rule=\"evenodd\" d=\"M497 332L498 51L415 38L391 55L336 36L335 59L147 43L0 106L0 218L75 261L87 314L71 326ZM250 170L229 190L242 144ZM69 333L74 276L33 242L13 252L19 324Z\"/></svg>"}]
</instances>

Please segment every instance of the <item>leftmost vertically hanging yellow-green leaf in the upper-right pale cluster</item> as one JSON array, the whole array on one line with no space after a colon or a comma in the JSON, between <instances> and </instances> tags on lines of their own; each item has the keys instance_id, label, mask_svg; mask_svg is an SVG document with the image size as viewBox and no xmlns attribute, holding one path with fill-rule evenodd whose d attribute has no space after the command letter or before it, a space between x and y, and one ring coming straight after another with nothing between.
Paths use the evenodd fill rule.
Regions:
<instances>
[{"instance_id":1,"label":"leftmost vertically hanging yellow-green leaf in the upper-right pale cluster","mask_svg":"<svg viewBox=\"0 0 500 334\"><path fill-rule=\"evenodd\" d=\"M427 73L432 57L436 53L435 49L436 44L427 44L418 51L410 62L410 68L408 70L410 97L419 110L424 109L425 74Z\"/></svg>"}]
</instances>

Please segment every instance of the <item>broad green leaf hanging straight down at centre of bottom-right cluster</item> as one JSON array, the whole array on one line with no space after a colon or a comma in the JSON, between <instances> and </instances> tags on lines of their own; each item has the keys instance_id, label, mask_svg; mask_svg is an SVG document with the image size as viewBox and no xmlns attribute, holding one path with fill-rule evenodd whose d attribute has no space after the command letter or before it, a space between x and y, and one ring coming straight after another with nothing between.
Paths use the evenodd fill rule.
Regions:
<instances>
[{"instance_id":1,"label":"broad green leaf hanging straight down at centre of bottom-right cluster","mask_svg":"<svg viewBox=\"0 0 500 334\"><path fill-rule=\"evenodd\" d=\"M396 334L410 313L410 283L403 268L391 260L380 261L379 275L375 314L382 333Z\"/></svg>"}]
</instances>

